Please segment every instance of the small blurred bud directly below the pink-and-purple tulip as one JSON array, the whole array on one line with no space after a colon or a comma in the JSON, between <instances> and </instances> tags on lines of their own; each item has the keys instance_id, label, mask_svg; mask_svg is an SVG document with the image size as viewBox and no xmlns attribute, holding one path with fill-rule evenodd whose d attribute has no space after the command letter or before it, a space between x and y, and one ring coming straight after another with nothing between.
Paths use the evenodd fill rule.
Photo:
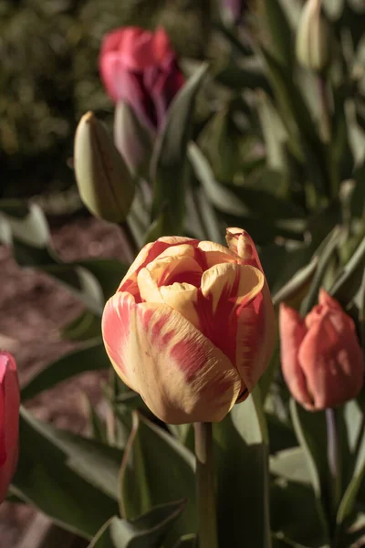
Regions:
<instances>
[{"instance_id":1,"label":"small blurred bud directly below the pink-and-purple tulip","mask_svg":"<svg viewBox=\"0 0 365 548\"><path fill-rule=\"evenodd\" d=\"M151 135L130 106L120 100L114 112L114 142L132 174L143 174L151 156Z\"/></svg>"}]
</instances>

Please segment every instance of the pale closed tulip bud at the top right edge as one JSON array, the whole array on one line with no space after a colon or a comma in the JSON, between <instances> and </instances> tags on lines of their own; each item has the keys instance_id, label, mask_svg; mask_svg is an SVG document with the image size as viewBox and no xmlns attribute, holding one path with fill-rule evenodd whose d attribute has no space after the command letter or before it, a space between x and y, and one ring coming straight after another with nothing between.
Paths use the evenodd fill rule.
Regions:
<instances>
[{"instance_id":1,"label":"pale closed tulip bud at the top right edge","mask_svg":"<svg viewBox=\"0 0 365 548\"><path fill-rule=\"evenodd\" d=\"M329 27L321 14L321 0L307 0L297 28L297 60L312 70L323 70L329 61Z\"/></svg>"}]
</instances>

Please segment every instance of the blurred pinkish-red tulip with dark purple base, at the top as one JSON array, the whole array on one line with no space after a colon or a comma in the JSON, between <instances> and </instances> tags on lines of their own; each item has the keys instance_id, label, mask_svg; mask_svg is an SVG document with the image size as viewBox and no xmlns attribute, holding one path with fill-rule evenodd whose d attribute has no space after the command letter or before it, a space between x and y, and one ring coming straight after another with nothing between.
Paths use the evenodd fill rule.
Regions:
<instances>
[{"instance_id":1,"label":"blurred pinkish-red tulip with dark purple base, at the top","mask_svg":"<svg viewBox=\"0 0 365 548\"><path fill-rule=\"evenodd\" d=\"M163 28L118 28L102 43L99 69L110 98L126 102L152 132L165 119L172 99L182 88L183 73Z\"/></svg>"}]
</instances>

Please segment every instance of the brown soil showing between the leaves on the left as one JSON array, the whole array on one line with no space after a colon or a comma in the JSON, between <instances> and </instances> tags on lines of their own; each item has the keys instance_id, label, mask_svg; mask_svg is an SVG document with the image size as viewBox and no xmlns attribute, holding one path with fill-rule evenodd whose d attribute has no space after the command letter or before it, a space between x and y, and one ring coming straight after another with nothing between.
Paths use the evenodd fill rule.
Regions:
<instances>
[{"instance_id":1,"label":"brown soil showing between the leaves on the left","mask_svg":"<svg viewBox=\"0 0 365 548\"><path fill-rule=\"evenodd\" d=\"M123 259L118 227L87 218L52 231L54 247L64 260ZM59 330L75 318L82 305L46 274L20 269L11 250L0 246L0 348L16 357L20 384L69 352L75 343L61 340ZM104 374L82 374L27 405L36 416L57 427L80 431L86 425L83 393L93 403L100 398ZM0 546L16 547L35 511L25 505L3 503L0 508Z\"/></svg>"}]
</instances>

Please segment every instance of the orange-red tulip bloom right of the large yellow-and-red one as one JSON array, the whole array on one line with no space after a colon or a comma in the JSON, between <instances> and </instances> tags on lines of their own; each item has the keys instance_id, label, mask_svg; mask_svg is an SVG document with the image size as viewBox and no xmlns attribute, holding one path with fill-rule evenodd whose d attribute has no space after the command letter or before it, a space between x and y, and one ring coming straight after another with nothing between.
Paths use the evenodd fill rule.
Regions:
<instances>
[{"instance_id":1,"label":"orange-red tulip bloom right of the large yellow-and-red one","mask_svg":"<svg viewBox=\"0 0 365 548\"><path fill-rule=\"evenodd\" d=\"M284 378L299 404L317 411L359 395L364 362L355 325L327 291L305 319L281 304L279 328Z\"/></svg>"}]
</instances>

